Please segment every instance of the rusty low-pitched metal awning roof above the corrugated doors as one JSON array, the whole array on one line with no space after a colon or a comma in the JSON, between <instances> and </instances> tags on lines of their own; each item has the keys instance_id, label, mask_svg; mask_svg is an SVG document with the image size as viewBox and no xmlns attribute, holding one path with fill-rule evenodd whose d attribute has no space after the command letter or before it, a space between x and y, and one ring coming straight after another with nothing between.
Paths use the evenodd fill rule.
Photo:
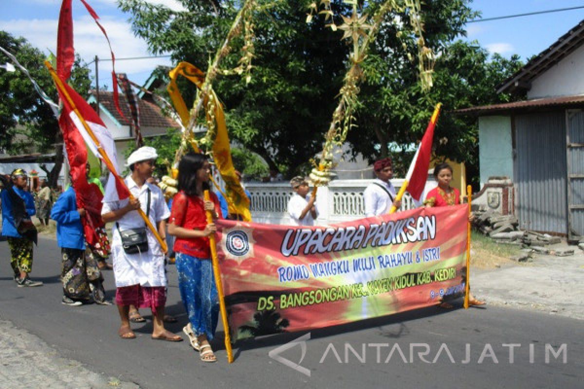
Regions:
<instances>
[{"instance_id":1,"label":"rusty low-pitched metal awning roof above the corrugated doors","mask_svg":"<svg viewBox=\"0 0 584 389\"><path fill-rule=\"evenodd\" d=\"M544 99L514 101L513 103L491 104L456 110L457 114L495 115L505 113L524 113L552 108L584 108L584 95L545 97Z\"/></svg>"}]
</instances>

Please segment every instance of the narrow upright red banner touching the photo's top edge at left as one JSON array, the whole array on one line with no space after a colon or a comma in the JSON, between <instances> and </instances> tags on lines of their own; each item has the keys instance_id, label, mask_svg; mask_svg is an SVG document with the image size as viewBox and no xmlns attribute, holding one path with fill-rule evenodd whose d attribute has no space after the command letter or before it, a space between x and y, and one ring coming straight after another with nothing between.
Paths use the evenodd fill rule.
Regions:
<instances>
[{"instance_id":1,"label":"narrow upright red banner touching the photo's top edge at left","mask_svg":"<svg viewBox=\"0 0 584 389\"><path fill-rule=\"evenodd\" d=\"M73 47L71 0L63 0L57 30L57 75L62 80L67 81L69 79L74 61L75 49Z\"/></svg>"}]
</instances>

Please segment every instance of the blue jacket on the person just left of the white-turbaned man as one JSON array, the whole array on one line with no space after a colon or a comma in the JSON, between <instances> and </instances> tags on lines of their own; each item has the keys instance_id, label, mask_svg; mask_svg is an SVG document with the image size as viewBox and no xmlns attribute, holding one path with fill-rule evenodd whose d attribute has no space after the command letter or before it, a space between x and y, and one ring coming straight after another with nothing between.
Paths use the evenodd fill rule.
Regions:
<instances>
[{"instance_id":1,"label":"blue jacket on the person just left of the white-turbaned man","mask_svg":"<svg viewBox=\"0 0 584 389\"><path fill-rule=\"evenodd\" d=\"M57 244L64 248L85 249L85 236L81 215L77 212L75 190L69 187L62 192L51 209L51 219L57 222Z\"/></svg>"}]
</instances>

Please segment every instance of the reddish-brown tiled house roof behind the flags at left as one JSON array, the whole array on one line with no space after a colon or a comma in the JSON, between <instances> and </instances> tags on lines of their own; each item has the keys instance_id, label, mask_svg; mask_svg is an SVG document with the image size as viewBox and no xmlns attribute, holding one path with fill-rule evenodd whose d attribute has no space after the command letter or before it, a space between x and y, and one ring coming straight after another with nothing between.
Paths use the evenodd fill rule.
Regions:
<instances>
[{"instance_id":1,"label":"reddish-brown tiled house roof behind the flags at left","mask_svg":"<svg viewBox=\"0 0 584 389\"><path fill-rule=\"evenodd\" d=\"M90 91L91 96L95 99L95 90ZM99 104L105 108L109 113L121 124L130 125L130 109L128 108L128 103L126 96L123 93L119 94L120 97L120 109L121 113L124 114L124 118L120 116L120 113L116 110L113 103L113 92L105 92L103 90L99 91ZM138 108L140 108L140 127L158 127L158 128L180 128L180 125L172 120L172 118L166 117L159 106L150 101L145 101L143 99L138 99Z\"/></svg>"}]
</instances>

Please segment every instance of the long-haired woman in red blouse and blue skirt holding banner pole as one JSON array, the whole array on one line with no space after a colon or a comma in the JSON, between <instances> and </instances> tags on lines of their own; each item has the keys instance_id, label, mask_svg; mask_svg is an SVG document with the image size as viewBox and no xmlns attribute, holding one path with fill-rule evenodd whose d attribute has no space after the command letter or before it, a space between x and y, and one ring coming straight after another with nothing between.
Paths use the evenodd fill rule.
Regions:
<instances>
[{"instance_id":1,"label":"long-haired woman in red blouse and blue skirt holding banner pole","mask_svg":"<svg viewBox=\"0 0 584 389\"><path fill-rule=\"evenodd\" d=\"M211 165L203 154L188 153L180 160L179 192L173 198L168 224L168 233L176 237L180 297L189 315L189 324L183 331L203 362L217 360L209 341L215 335L219 315L208 238L217 228L214 223L207 224L206 211L213 211L218 218L221 208L213 192L211 201L203 199L203 191L209 189L210 173Z\"/></svg>"}]
</instances>

